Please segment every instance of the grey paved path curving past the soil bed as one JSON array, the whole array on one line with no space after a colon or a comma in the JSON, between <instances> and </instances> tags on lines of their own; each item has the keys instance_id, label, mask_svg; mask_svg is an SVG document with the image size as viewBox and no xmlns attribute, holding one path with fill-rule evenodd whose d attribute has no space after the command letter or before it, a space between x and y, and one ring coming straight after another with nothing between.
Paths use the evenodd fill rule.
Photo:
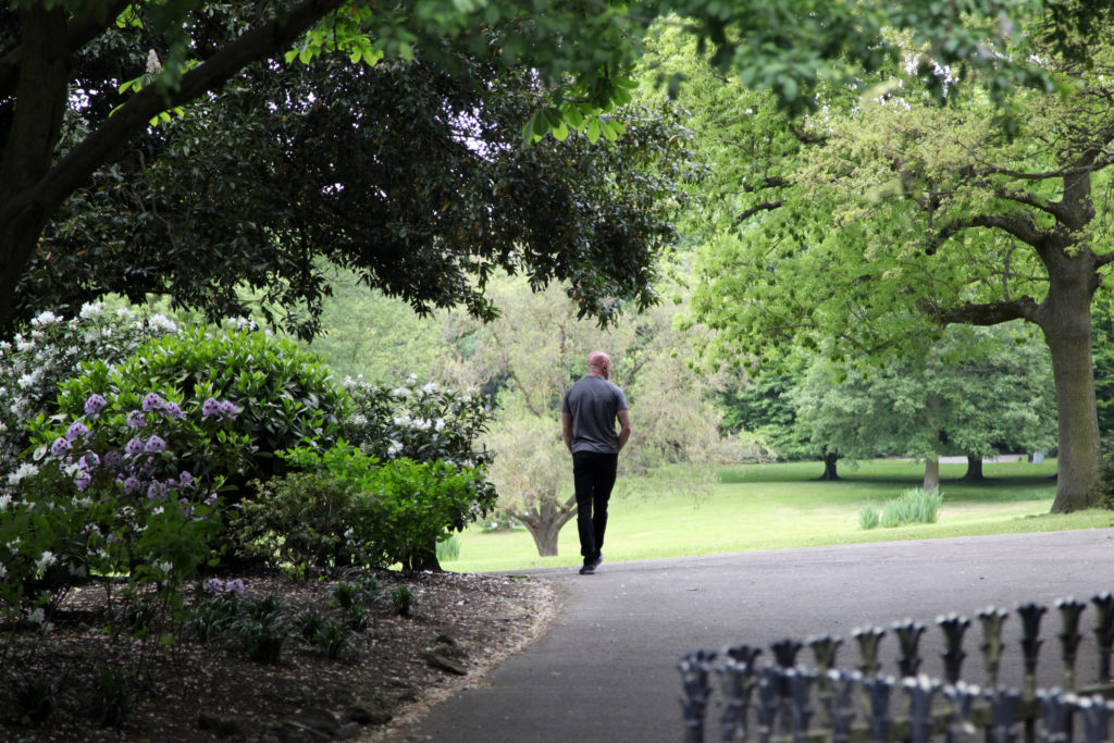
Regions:
<instances>
[{"instance_id":1,"label":"grey paved path curving past the soil bed","mask_svg":"<svg viewBox=\"0 0 1114 743\"><path fill-rule=\"evenodd\" d=\"M681 741L676 662L682 653L836 634L844 638L841 665L850 666L858 655L850 647L852 628L889 628L903 618L929 625L921 644L928 658L924 671L939 675L940 633L934 624L941 614L974 618L988 605L1013 610L1034 600L1052 607L1057 598L1088 600L1114 592L1114 530L605 561L594 576L569 568L531 574L551 577L564 594L546 635L479 688L434 708L407 740ZM1084 615L1085 645L1092 612ZM1059 618L1053 615L1049 608L1042 661L1058 674L1052 637ZM1018 624L1010 617L1007 628ZM973 627L965 675L980 683L977 636ZM1018 655L1017 643L1009 645ZM887 667L889 673L896 668L892 662ZM1016 667L1004 667L1004 678L1010 673ZM1093 678L1093 671L1081 665L1081 681ZM1056 678L1044 683L1052 686Z\"/></svg>"}]
</instances>

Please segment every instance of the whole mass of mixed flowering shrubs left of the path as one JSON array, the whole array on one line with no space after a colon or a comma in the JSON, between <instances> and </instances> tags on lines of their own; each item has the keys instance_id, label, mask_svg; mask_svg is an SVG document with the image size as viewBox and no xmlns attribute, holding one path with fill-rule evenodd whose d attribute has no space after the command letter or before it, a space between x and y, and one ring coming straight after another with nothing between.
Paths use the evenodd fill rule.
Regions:
<instances>
[{"instance_id":1,"label":"whole mass of mixed flowering shrubs left of the path","mask_svg":"<svg viewBox=\"0 0 1114 743\"><path fill-rule=\"evenodd\" d=\"M414 571L494 506L475 446L490 412L467 393L334 384L268 334L100 305L40 315L16 341L0 345L0 665L17 667L13 638L49 632L68 592L97 581L110 645L139 644L131 667L107 663L86 690L104 725L128 717L150 648L218 643L276 663L306 643L343 658L374 620L369 602L412 607L373 579L339 584L329 607L242 599L242 581L214 573L229 558L301 579ZM25 682L18 714L48 718L60 687Z\"/></svg>"}]
</instances>

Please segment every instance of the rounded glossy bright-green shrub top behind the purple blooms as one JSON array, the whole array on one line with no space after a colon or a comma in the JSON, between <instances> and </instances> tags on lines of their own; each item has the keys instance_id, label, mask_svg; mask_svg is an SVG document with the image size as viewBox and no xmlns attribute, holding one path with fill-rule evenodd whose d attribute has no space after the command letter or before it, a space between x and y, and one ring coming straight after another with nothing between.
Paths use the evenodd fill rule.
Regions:
<instances>
[{"instance_id":1,"label":"rounded glossy bright-green shrub top behind the purple blooms","mask_svg":"<svg viewBox=\"0 0 1114 743\"><path fill-rule=\"evenodd\" d=\"M250 479L275 472L273 452L303 440L332 441L346 410L345 397L316 356L293 342L238 326L187 329L140 346L115 366L89 363L80 377L62 385L58 404L76 419L91 395L110 397L119 410L127 409L126 422L139 436L167 414L148 409L153 391L177 410L196 405L201 421L221 421L227 431L221 436L235 433L246 442L251 454L236 460L235 469L227 469L221 458L209 459L209 449L190 446L175 452L195 476L223 476L231 486L231 501L238 499L238 488ZM148 438L141 441L144 447L158 446ZM206 441L206 446L219 443L219 439Z\"/></svg>"}]
</instances>

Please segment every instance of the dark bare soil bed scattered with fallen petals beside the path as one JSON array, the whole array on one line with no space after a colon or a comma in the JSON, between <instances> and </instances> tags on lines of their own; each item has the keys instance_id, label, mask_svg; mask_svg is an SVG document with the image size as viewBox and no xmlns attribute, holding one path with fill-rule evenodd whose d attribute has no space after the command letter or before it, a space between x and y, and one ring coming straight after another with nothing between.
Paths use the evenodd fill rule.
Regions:
<instances>
[{"instance_id":1,"label":"dark bare soil bed scattered with fallen petals beside the path","mask_svg":"<svg viewBox=\"0 0 1114 743\"><path fill-rule=\"evenodd\" d=\"M554 616L553 587L537 579L389 571L361 577L369 575L380 586L364 606L370 622L349 634L338 659L304 639L297 624L309 610L346 616L335 580L246 578L242 600L274 596L283 606L290 630L277 663L252 661L244 643L227 636L202 643L184 633L164 644L154 636L158 630L144 638L129 629L114 637L108 628L118 629L121 619L104 588L75 589L49 632L0 627L8 633L0 636L0 740L314 740L303 723L315 716L334 720L342 736L379 740L477 684ZM399 615L390 599L399 586L412 594L410 616ZM128 711L118 726L102 718L115 708L104 702L111 698L104 685L98 687L106 672L123 680L116 687L123 684Z\"/></svg>"}]
</instances>

